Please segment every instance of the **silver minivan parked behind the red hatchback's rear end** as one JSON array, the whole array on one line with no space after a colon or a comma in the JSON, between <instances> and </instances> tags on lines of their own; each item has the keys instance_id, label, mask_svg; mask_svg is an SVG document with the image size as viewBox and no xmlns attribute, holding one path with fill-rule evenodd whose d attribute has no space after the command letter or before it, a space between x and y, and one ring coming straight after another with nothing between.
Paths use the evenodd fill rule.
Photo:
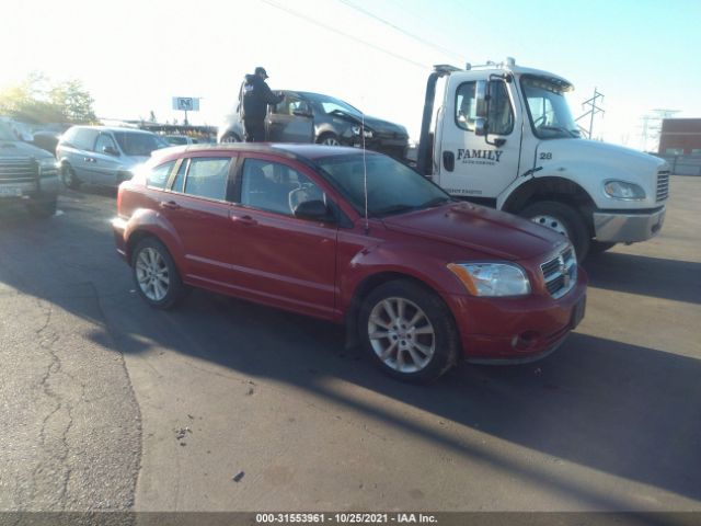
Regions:
<instances>
[{"instance_id":1,"label":"silver minivan parked behind the red hatchback's rear end","mask_svg":"<svg viewBox=\"0 0 701 526\"><path fill-rule=\"evenodd\" d=\"M151 132L107 126L72 126L60 138L56 158L69 188L82 183L116 186L131 179L153 150L166 148Z\"/></svg>"}]
</instances>

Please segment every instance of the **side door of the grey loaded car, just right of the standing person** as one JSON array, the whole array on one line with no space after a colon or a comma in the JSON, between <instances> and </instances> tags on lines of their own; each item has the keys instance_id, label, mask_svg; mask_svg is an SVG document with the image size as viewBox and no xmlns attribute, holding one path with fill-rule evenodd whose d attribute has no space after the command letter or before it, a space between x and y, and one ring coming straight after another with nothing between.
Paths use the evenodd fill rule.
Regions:
<instances>
[{"instance_id":1,"label":"side door of the grey loaded car, just right of the standing person","mask_svg":"<svg viewBox=\"0 0 701 526\"><path fill-rule=\"evenodd\" d=\"M311 108L298 95L285 93L283 102L272 106L265 121L269 142L314 141Z\"/></svg>"}]
</instances>

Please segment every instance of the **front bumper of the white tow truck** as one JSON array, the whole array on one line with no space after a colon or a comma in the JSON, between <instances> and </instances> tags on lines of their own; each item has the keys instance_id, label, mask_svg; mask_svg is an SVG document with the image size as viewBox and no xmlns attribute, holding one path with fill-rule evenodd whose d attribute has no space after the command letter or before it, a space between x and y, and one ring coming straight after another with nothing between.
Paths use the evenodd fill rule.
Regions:
<instances>
[{"instance_id":1,"label":"front bumper of the white tow truck","mask_svg":"<svg viewBox=\"0 0 701 526\"><path fill-rule=\"evenodd\" d=\"M594 213L596 240L612 243L645 241L659 233L665 221L666 208L632 213Z\"/></svg>"}]
</instances>

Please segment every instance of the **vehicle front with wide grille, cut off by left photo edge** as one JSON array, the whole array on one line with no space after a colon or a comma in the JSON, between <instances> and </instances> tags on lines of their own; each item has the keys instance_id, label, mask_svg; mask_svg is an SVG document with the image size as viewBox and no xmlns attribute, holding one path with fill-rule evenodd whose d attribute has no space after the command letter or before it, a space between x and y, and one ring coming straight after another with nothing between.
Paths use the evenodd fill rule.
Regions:
<instances>
[{"instance_id":1,"label":"vehicle front with wide grille, cut off by left photo edge","mask_svg":"<svg viewBox=\"0 0 701 526\"><path fill-rule=\"evenodd\" d=\"M0 122L0 206L24 203L31 214L56 214L58 171L54 156L18 138Z\"/></svg>"}]
</instances>

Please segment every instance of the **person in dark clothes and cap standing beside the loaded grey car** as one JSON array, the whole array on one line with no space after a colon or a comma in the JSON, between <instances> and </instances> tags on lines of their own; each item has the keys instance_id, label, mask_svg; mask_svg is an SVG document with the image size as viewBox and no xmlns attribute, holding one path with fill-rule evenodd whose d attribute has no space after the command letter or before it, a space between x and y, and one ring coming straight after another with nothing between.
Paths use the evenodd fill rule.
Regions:
<instances>
[{"instance_id":1,"label":"person in dark clothes and cap standing beside the loaded grey car","mask_svg":"<svg viewBox=\"0 0 701 526\"><path fill-rule=\"evenodd\" d=\"M243 129L246 142L265 141L265 114L268 104L278 104L285 99L284 94L275 94L265 83L267 79L265 68L257 67L253 75L246 75L239 101L242 102Z\"/></svg>"}]
</instances>

